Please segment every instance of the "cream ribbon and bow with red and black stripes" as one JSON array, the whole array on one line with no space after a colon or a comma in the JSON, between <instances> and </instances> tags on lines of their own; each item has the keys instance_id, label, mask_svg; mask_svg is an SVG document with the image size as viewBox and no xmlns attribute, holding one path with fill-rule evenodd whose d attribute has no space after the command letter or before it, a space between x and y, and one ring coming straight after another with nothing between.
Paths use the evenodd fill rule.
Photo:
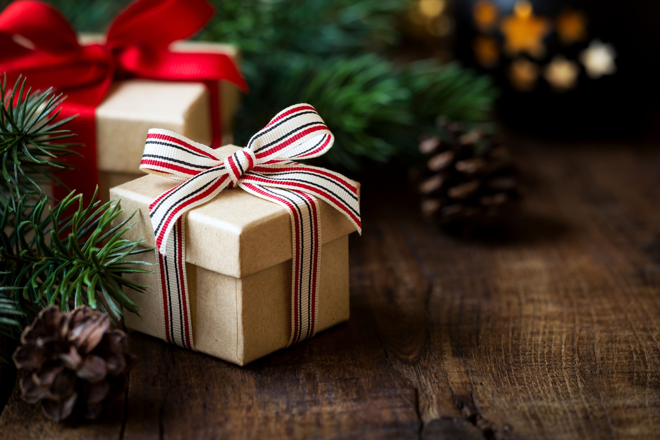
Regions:
<instances>
[{"instance_id":1,"label":"cream ribbon and bow with red and black stripes","mask_svg":"<svg viewBox=\"0 0 660 440\"><path fill-rule=\"evenodd\" d=\"M140 169L183 181L149 205L158 247L165 340L194 350L183 214L233 186L288 210L293 241L288 345L314 336L321 259L317 199L343 212L358 232L362 230L356 183L339 173L294 161L321 156L333 142L333 134L309 104L282 110L248 146L225 160L216 150L172 131L149 130Z\"/></svg>"}]
</instances>

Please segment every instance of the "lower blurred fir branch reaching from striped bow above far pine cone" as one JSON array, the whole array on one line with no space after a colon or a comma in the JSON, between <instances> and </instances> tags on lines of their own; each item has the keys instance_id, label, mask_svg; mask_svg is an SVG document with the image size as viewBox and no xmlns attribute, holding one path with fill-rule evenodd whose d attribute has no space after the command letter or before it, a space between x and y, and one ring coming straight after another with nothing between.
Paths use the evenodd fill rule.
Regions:
<instances>
[{"instance_id":1,"label":"lower blurred fir branch reaching from striped bow above far pine cone","mask_svg":"<svg viewBox=\"0 0 660 440\"><path fill-rule=\"evenodd\" d=\"M436 117L482 121L496 98L488 77L457 63L398 67L370 53L325 61L287 54L257 64L266 80L254 81L244 96L236 117L237 143L246 144L282 108L308 102L335 135L335 145L321 159L350 172L368 162L413 161L419 133L428 132Z\"/></svg>"}]
</instances>

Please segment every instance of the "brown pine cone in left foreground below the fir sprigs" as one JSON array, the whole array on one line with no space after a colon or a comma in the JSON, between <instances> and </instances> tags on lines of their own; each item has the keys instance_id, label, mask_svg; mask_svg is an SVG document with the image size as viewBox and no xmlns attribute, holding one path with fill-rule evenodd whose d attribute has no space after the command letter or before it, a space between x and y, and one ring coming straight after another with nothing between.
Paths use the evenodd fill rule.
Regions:
<instances>
[{"instance_id":1,"label":"brown pine cone in left foreground below the fir sprigs","mask_svg":"<svg viewBox=\"0 0 660 440\"><path fill-rule=\"evenodd\" d=\"M75 414L97 418L104 403L120 394L135 360L128 338L110 330L110 319L89 307L63 313L49 307L20 336L14 352L22 398L42 403L46 416L59 422Z\"/></svg>"}]
</instances>

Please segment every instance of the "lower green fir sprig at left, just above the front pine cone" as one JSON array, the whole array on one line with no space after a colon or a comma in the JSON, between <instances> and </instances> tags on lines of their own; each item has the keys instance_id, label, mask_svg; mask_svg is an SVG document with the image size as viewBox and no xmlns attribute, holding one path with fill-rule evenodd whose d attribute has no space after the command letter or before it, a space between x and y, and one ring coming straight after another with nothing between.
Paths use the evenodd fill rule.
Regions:
<instances>
[{"instance_id":1,"label":"lower green fir sprig at left, just above the front pine cone","mask_svg":"<svg viewBox=\"0 0 660 440\"><path fill-rule=\"evenodd\" d=\"M123 315L122 307L138 313L137 304L123 292L123 286L138 292L145 292L148 286L123 275L150 273L133 267L150 265L135 261L133 256L152 249L138 247L143 239L121 238L133 226L127 223L135 212L113 226L112 221L123 212L117 201L95 201L84 206L82 195L72 192L49 208L48 216L44 215L48 204L45 196L29 208L24 201L17 203L20 215L7 208L1 214L0 262L3 290L12 292L11 298L26 315L34 316L53 304L65 311L89 305L117 320ZM28 232L34 234L32 241L24 238Z\"/></svg>"}]
</instances>

